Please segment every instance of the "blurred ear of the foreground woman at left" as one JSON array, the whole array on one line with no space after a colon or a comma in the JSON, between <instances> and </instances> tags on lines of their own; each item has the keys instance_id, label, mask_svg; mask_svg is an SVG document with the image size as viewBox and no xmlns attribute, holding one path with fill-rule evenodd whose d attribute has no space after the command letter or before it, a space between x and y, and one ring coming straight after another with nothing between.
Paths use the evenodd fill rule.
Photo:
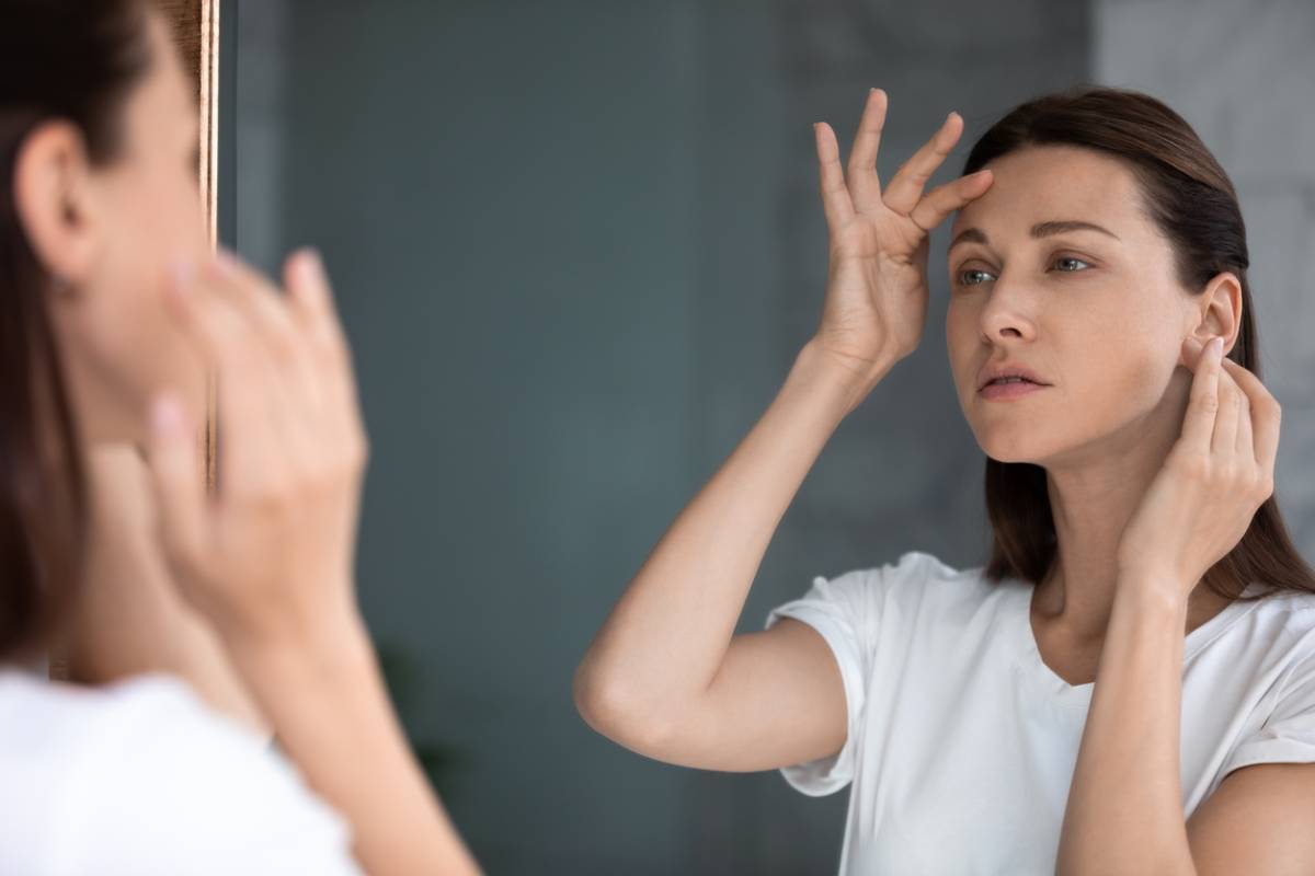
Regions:
<instances>
[{"instance_id":1,"label":"blurred ear of the foreground woman at left","mask_svg":"<svg viewBox=\"0 0 1315 876\"><path fill-rule=\"evenodd\" d=\"M87 278L95 259L92 167L76 125L38 125L18 147L14 205L42 267L68 282Z\"/></svg>"}]
</instances>

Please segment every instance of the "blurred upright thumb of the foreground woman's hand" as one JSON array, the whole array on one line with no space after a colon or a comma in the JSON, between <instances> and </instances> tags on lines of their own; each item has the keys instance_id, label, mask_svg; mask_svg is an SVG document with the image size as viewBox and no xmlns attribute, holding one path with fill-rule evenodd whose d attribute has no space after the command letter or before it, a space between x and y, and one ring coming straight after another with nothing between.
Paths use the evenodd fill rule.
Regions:
<instances>
[{"instance_id":1,"label":"blurred upright thumb of the foreground woman's hand","mask_svg":"<svg viewBox=\"0 0 1315 876\"><path fill-rule=\"evenodd\" d=\"M166 553L193 565L201 556L205 485L187 415L172 395L159 395L151 403L146 452Z\"/></svg>"}]
</instances>

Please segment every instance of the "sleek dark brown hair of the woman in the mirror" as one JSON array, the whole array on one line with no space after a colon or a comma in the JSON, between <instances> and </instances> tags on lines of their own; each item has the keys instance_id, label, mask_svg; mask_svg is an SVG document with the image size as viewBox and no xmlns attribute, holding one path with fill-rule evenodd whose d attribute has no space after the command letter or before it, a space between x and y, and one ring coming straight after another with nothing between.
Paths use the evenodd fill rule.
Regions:
<instances>
[{"instance_id":1,"label":"sleek dark brown hair of the woman in the mirror","mask_svg":"<svg viewBox=\"0 0 1315 876\"><path fill-rule=\"evenodd\" d=\"M964 173L1028 146L1078 146L1120 159L1135 175L1143 208L1173 248L1178 281L1199 293L1219 273L1241 284L1241 327L1228 357L1260 376L1256 319L1247 282L1247 229L1228 175L1187 122L1161 101L1135 91L1078 88L1027 101L995 122L973 146ZM1045 470L1030 462L986 458L986 512L994 532L985 575L1040 583L1056 558L1055 520ZM1251 582L1272 590L1315 592L1315 573L1293 545L1270 496L1247 533L1203 582L1237 598Z\"/></svg>"}]
</instances>

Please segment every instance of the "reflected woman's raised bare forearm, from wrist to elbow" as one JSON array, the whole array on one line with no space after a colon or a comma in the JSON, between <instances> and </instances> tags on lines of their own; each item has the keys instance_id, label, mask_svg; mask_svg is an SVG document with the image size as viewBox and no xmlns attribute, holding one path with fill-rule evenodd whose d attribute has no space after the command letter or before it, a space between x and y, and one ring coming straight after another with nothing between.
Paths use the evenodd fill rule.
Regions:
<instances>
[{"instance_id":1,"label":"reflected woman's raised bare forearm, from wrist to elbow","mask_svg":"<svg viewBox=\"0 0 1315 876\"><path fill-rule=\"evenodd\" d=\"M577 701L642 699L647 717L633 717L643 722L671 720L706 691L785 510L865 393L811 344L800 352L771 406L608 617L577 671Z\"/></svg>"}]
</instances>

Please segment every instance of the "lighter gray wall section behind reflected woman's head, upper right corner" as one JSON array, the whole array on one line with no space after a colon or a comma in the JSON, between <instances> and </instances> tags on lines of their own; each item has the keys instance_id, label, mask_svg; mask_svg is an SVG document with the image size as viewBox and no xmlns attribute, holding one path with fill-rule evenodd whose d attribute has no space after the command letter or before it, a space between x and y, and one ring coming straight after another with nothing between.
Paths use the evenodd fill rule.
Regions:
<instances>
[{"instance_id":1,"label":"lighter gray wall section behind reflected woman's head, upper right corner","mask_svg":"<svg viewBox=\"0 0 1315 876\"><path fill-rule=\"evenodd\" d=\"M1315 557L1315 4L1101 0L1095 68L1182 113L1232 177L1251 248L1261 376L1283 406L1274 493Z\"/></svg>"}]
</instances>

